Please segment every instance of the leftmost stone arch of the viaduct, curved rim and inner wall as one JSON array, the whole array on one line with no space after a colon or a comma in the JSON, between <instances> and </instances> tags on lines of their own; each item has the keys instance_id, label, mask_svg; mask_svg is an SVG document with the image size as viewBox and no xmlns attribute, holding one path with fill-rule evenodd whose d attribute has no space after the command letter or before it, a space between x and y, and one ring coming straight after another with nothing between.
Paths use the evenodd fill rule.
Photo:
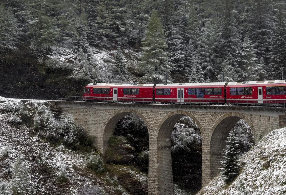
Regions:
<instances>
[{"instance_id":1,"label":"leftmost stone arch of the viaduct, curved rim and inner wall","mask_svg":"<svg viewBox=\"0 0 286 195\"><path fill-rule=\"evenodd\" d=\"M108 116L102 125L102 129L104 130L103 131L103 145L102 145L103 154L105 154L106 150L108 149L109 138L113 135L115 127L120 121L120 119L122 119L125 115L131 114L131 113L136 114L144 121L144 123L147 126L148 132L149 132L150 124L143 114L141 114L140 112L136 110L132 110L132 109L117 110L113 112L110 116Z\"/></svg>"}]
</instances>

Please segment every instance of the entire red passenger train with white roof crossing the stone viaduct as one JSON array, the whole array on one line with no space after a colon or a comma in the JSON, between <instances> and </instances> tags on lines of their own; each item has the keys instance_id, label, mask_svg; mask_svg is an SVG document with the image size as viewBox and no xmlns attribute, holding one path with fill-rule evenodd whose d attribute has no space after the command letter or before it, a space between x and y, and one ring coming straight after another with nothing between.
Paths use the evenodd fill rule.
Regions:
<instances>
[{"instance_id":1,"label":"entire red passenger train with white roof crossing the stone viaduct","mask_svg":"<svg viewBox=\"0 0 286 195\"><path fill-rule=\"evenodd\" d=\"M131 102L211 102L285 104L285 80L221 83L90 83L87 100Z\"/></svg>"}]
</instances>

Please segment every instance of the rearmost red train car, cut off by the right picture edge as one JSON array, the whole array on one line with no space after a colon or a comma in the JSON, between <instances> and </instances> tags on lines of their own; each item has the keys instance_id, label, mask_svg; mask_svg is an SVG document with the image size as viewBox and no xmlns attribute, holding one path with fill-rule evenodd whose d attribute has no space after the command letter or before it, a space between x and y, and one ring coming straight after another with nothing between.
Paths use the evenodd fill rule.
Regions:
<instances>
[{"instance_id":1,"label":"rearmost red train car, cut off by the right picture edge","mask_svg":"<svg viewBox=\"0 0 286 195\"><path fill-rule=\"evenodd\" d=\"M230 82L226 99L230 103L284 104L285 80Z\"/></svg>"}]
</instances>

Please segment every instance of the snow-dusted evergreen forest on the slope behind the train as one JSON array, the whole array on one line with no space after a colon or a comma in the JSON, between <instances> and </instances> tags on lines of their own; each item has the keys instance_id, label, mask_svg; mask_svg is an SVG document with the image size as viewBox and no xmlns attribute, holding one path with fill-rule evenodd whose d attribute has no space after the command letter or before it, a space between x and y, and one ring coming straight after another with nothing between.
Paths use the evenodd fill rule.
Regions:
<instances>
[{"instance_id":1,"label":"snow-dusted evergreen forest on the slope behind the train","mask_svg":"<svg viewBox=\"0 0 286 195\"><path fill-rule=\"evenodd\" d=\"M1 0L0 90L281 79L283 0ZM36 92L36 93L35 93Z\"/></svg>"}]
</instances>

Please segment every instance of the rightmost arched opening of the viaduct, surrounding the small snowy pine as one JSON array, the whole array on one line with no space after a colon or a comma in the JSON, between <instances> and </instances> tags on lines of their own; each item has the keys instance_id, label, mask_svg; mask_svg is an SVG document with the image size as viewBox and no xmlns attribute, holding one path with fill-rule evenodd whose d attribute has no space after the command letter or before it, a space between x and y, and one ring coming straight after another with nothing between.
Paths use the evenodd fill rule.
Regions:
<instances>
[{"instance_id":1,"label":"rightmost arched opening of the viaduct, surrounding the small snowy pine","mask_svg":"<svg viewBox=\"0 0 286 195\"><path fill-rule=\"evenodd\" d=\"M210 176L216 177L221 170L223 152L227 146L229 132L234 129L239 140L241 152L247 152L254 144L253 125L246 116L234 114L233 116L222 116L217 122L210 140ZM216 124L217 124L216 123ZM252 128L251 128L252 127Z\"/></svg>"}]
</instances>

